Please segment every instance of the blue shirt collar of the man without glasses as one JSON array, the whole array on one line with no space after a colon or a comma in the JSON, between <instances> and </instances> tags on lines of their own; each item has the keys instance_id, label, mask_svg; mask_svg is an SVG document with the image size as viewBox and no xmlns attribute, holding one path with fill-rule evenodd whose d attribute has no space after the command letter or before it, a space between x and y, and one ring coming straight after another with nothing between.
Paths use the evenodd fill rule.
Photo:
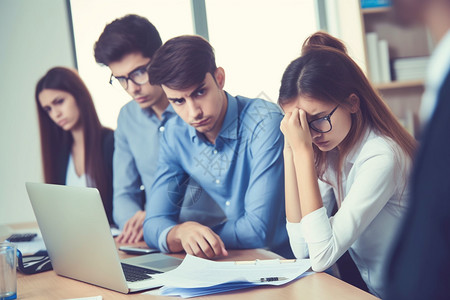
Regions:
<instances>
[{"instance_id":1,"label":"blue shirt collar of the man without glasses","mask_svg":"<svg viewBox=\"0 0 450 300\"><path fill-rule=\"evenodd\" d=\"M225 92L225 95L227 96L228 100L227 112L225 113L225 119L223 120L222 128L220 129L218 137L220 136L227 139L237 139L239 122L237 100L227 92ZM194 142L196 138L205 140L203 135L201 133L199 134L194 127L190 125L188 126L192 142Z\"/></svg>"}]
</instances>

